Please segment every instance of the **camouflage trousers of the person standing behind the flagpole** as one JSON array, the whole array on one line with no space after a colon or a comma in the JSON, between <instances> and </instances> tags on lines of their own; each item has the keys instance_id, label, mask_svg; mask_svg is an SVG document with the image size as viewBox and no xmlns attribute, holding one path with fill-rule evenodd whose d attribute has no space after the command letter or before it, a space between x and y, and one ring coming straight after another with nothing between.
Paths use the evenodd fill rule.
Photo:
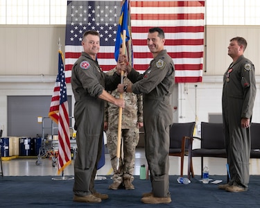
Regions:
<instances>
[{"instance_id":1,"label":"camouflage trousers of the person standing behind the flagpole","mask_svg":"<svg viewBox=\"0 0 260 208\"><path fill-rule=\"evenodd\" d=\"M114 171L114 182L123 182L123 179L134 180L135 148L139 142L139 129L122 129L121 151L119 158L119 170L116 170L117 137L116 130L107 130L107 148L110 150L111 165Z\"/></svg>"}]
</instances>

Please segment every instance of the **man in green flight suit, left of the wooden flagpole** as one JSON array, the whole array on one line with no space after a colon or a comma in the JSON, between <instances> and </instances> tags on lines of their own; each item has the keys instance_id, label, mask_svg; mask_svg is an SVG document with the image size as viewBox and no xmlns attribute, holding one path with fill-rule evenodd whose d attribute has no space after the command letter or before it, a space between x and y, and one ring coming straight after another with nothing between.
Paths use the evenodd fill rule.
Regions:
<instances>
[{"instance_id":1,"label":"man in green flight suit, left of the wooden flagpole","mask_svg":"<svg viewBox=\"0 0 260 208\"><path fill-rule=\"evenodd\" d=\"M99 33L86 31L82 45L84 51L73 64L71 73L71 87L76 100L74 117L78 146L74 164L73 201L98 203L108 198L107 194L94 189L103 146L105 101L118 107L125 107L125 101L105 91L116 89L120 83L121 69L117 67L116 72L108 76L99 67L96 60L100 49Z\"/></svg>"}]
</instances>

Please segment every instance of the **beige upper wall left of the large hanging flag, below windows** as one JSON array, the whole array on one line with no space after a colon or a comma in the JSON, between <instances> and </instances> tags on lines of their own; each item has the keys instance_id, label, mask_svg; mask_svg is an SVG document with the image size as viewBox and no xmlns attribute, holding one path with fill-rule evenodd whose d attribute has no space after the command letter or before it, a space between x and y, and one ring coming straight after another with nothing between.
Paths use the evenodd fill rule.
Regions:
<instances>
[{"instance_id":1,"label":"beige upper wall left of the large hanging flag, below windows","mask_svg":"<svg viewBox=\"0 0 260 208\"><path fill-rule=\"evenodd\" d=\"M0 26L0 75L56 75L65 26Z\"/></svg>"}]
</instances>

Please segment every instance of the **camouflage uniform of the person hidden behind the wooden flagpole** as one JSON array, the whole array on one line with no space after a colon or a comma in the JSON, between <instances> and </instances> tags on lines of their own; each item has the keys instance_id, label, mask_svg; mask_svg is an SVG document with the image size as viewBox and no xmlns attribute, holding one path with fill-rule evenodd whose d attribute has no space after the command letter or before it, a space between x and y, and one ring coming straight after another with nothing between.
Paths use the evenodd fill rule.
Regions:
<instances>
[{"instance_id":1,"label":"camouflage uniform of the person hidden behind the wooden flagpole","mask_svg":"<svg viewBox=\"0 0 260 208\"><path fill-rule=\"evenodd\" d=\"M114 73L116 69L112 69L107 73ZM125 76L124 84L130 84L130 80ZM119 98L120 94L117 90L109 92L112 96ZM139 128L137 123L143 122L143 99L141 94L123 93L125 100L125 108L122 110L121 135L123 150L119 159L119 170L116 170L116 150L118 137L118 121L119 107L112 103L106 103L105 122L108 123L107 128L107 148L110 149L111 164L114 171L114 182L120 182L129 179L134 180L133 172L135 168L135 148L139 142Z\"/></svg>"}]
</instances>

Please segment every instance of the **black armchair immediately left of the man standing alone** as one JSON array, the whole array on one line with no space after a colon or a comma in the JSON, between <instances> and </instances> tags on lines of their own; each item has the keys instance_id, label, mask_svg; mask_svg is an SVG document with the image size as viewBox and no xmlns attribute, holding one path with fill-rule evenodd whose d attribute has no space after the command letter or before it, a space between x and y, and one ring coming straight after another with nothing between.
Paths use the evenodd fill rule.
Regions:
<instances>
[{"instance_id":1,"label":"black armchair immediately left of the man standing alone","mask_svg":"<svg viewBox=\"0 0 260 208\"><path fill-rule=\"evenodd\" d=\"M203 171L204 157L222 157L227 158L225 149L225 138L223 131L223 123L207 123L201 122L201 137L191 137L189 147L189 164L192 168L192 157L201 157L201 177ZM187 138L189 139L189 138ZM192 149L193 139L200 139L200 148ZM189 167L188 167L189 168ZM188 170L191 173L191 170Z\"/></svg>"}]
</instances>

